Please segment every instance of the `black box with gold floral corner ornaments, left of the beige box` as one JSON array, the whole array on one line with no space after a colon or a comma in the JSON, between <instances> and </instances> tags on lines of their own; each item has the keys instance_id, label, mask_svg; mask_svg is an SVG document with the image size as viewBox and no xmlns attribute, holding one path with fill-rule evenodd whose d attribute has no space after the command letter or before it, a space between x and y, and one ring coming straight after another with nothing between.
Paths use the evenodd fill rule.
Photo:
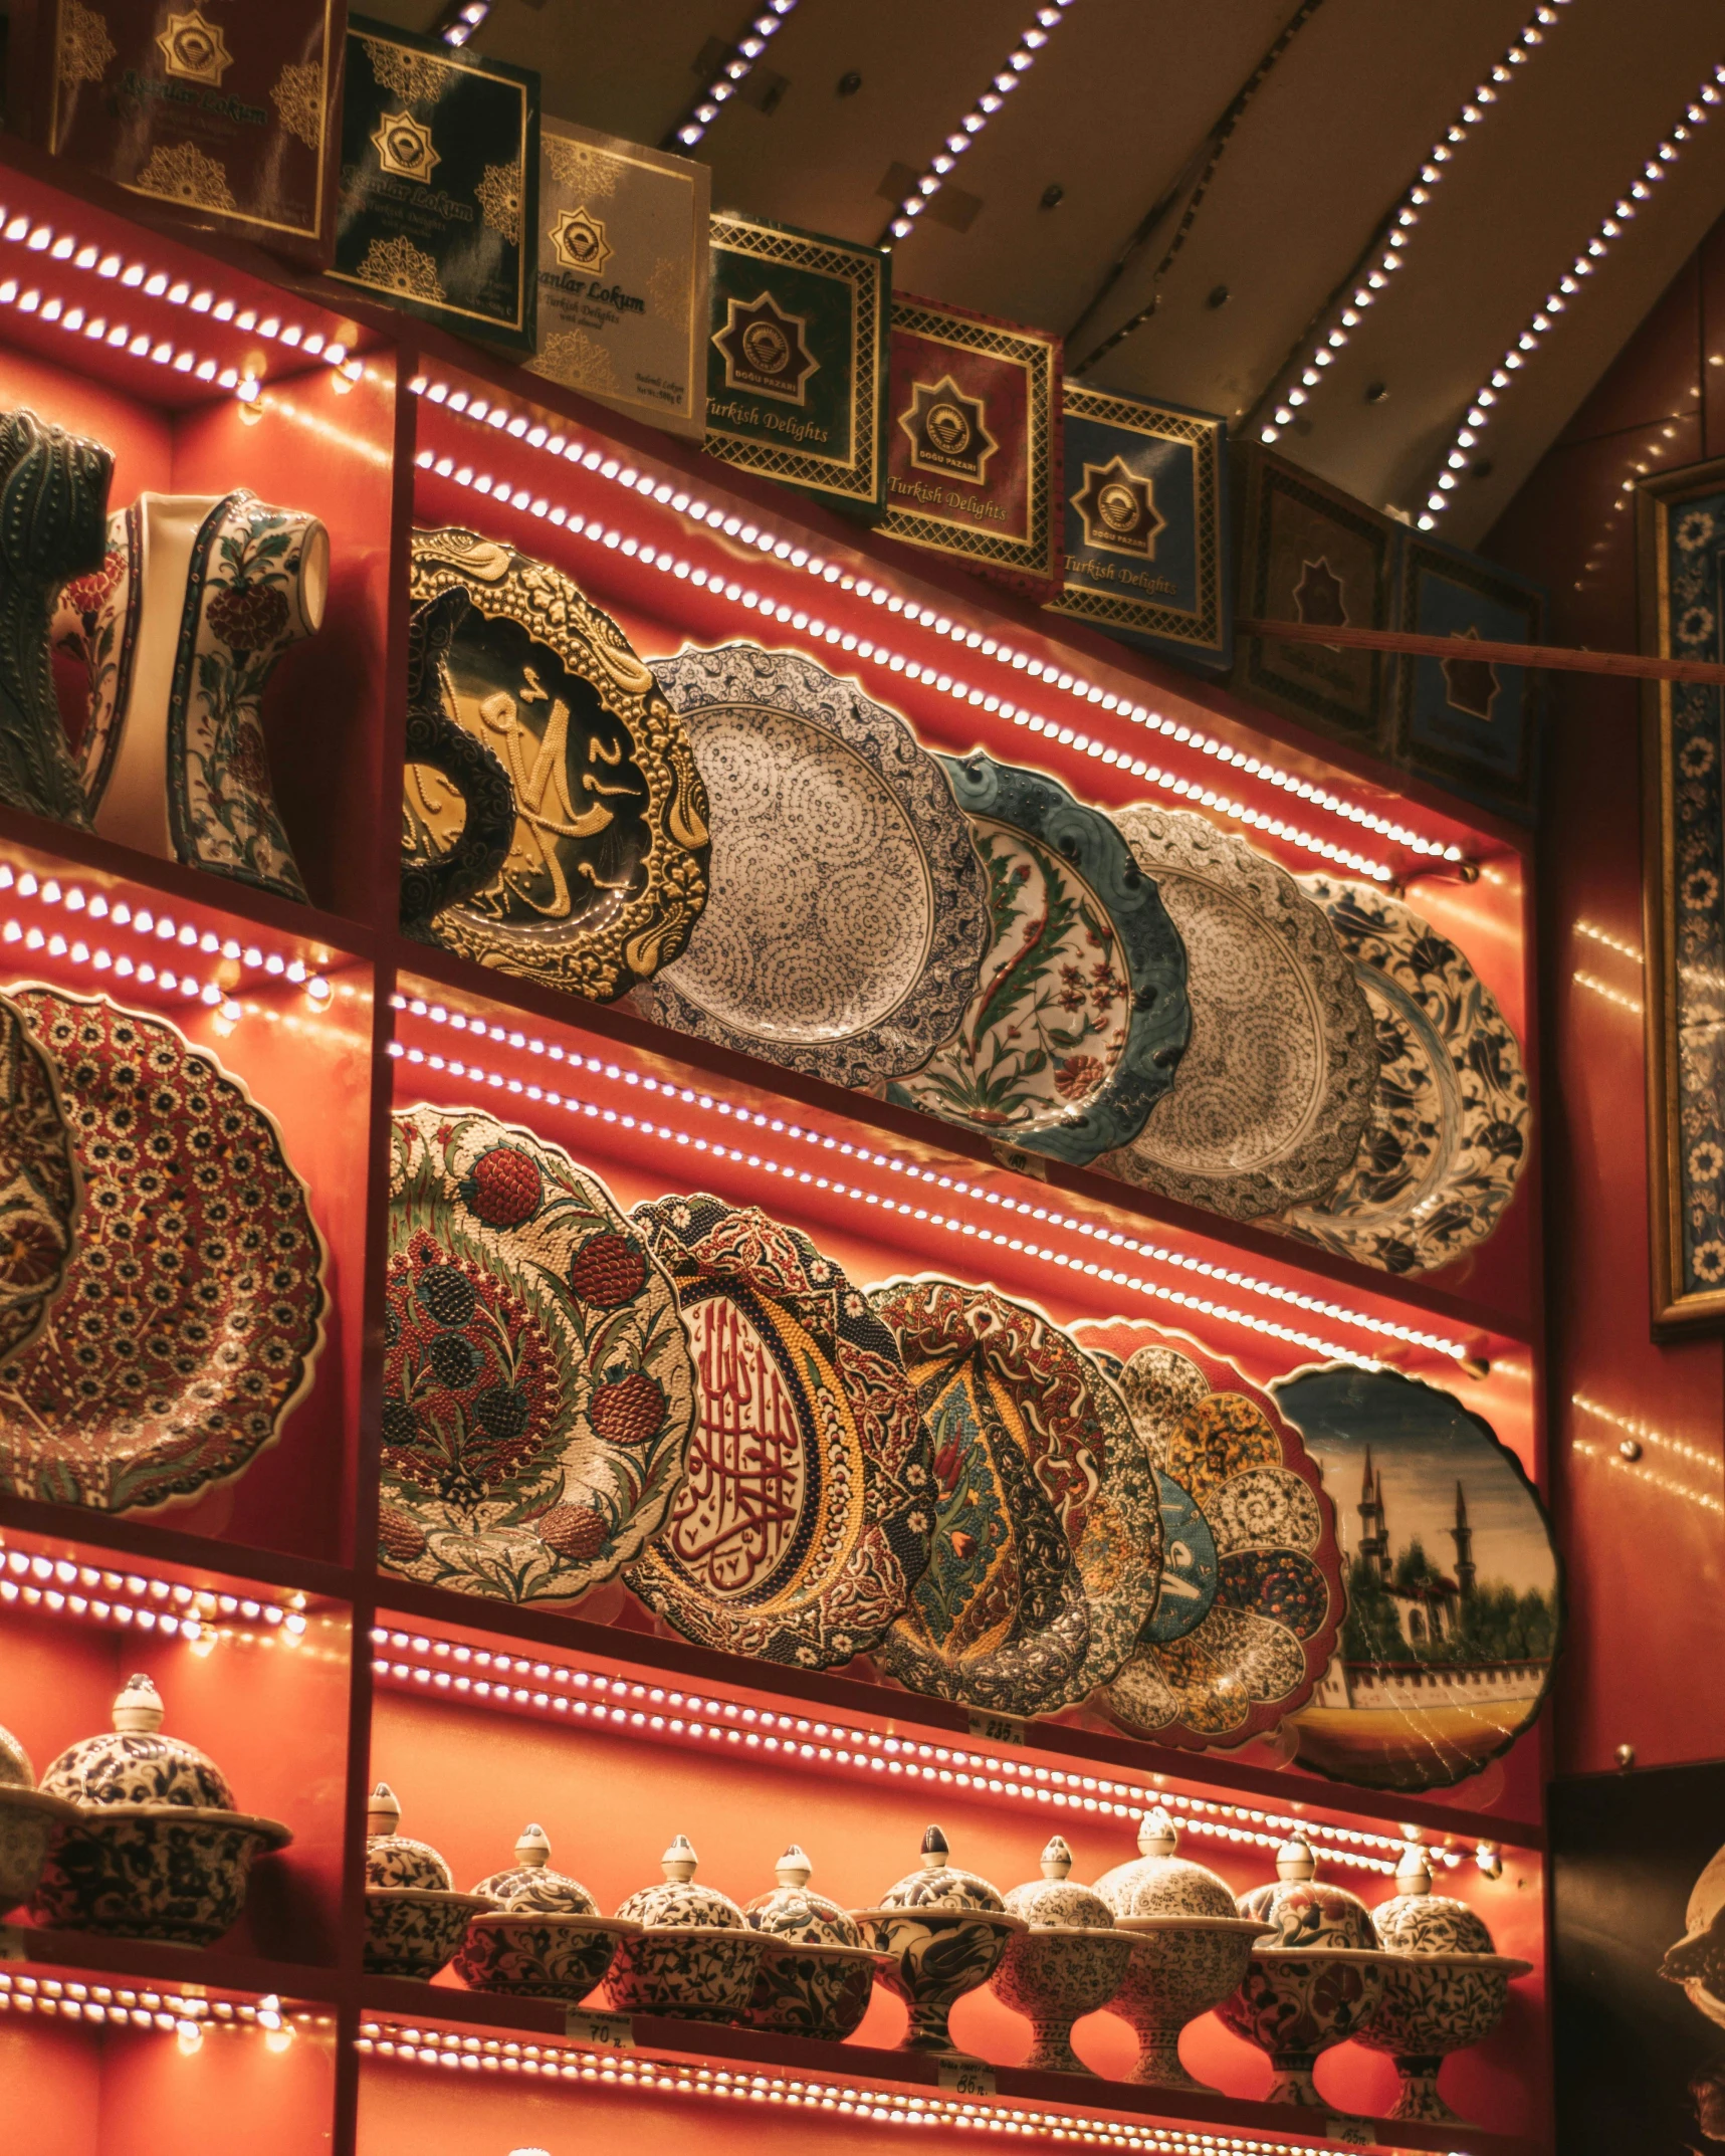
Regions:
<instances>
[{"instance_id":1,"label":"black box with gold floral corner ornaments, left of the beige box","mask_svg":"<svg viewBox=\"0 0 1725 2156\"><path fill-rule=\"evenodd\" d=\"M351 17L332 276L530 354L539 78Z\"/></svg>"}]
</instances>

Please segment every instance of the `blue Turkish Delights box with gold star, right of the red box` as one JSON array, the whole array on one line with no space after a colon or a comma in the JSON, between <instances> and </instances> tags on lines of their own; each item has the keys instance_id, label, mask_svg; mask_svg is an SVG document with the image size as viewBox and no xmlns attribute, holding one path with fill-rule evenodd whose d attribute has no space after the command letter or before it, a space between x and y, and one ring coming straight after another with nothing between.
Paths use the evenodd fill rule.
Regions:
<instances>
[{"instance_id":1,"label":"blue Turkish Delights box with gold star, right of the red box","mask_svg":"<svg viewBox=\"0 0 1725 2156\"><path fill-rule=\"evenodd\" d=\"M1054 610L1186 666L1229 666L1227 423L1067 382L1063 429Z\"/></svg>"}]
</instances>

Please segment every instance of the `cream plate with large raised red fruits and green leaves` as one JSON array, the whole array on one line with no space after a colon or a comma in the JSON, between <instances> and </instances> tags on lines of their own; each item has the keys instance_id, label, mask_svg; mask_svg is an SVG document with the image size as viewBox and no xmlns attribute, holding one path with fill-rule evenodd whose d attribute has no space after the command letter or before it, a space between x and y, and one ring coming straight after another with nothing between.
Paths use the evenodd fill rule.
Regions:
<instances>
[{"instance_id":1,"label":"cream plate with large raised red fruits and green leaves","mask_svg":"<svg viewBox=\"0 0 1725 2156\"><path fill-rule=\"evenodd\" d=\"M677 1291L597 1175L468 1108L390 1128L390 1570L569 1602L664 1522L694 1429Z\"/></svg>"}]
</instances>

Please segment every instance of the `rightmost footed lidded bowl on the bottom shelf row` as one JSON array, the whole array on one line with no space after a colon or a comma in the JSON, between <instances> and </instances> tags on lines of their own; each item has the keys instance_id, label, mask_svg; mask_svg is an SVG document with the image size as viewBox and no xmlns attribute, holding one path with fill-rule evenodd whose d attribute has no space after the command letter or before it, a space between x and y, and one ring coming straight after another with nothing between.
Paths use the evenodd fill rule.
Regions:
<instances>
[{"instance_id":1,"label":"rightmost footed lidded bowl on the bottom shelf row","mask_svg":"<svg viewBox=\"0 0 1725 2156\"><path fill-rule=\"evenodd\" d=\"M1425 1850L1414 1841L1402 1850L1395 1895L1378 1904L1371 1923L1389 1955L1384 1996L1361 2044L1395 2059L1402 2093L1391 2117L1458 2124L1460 2113L1438 2096L1438 2068L1451 2050L1484 2044L1503 2020L1509 1979L1533 1964L1499 1953L1466 1902L1432 1893Z\"/></svg>"}]
</instances>

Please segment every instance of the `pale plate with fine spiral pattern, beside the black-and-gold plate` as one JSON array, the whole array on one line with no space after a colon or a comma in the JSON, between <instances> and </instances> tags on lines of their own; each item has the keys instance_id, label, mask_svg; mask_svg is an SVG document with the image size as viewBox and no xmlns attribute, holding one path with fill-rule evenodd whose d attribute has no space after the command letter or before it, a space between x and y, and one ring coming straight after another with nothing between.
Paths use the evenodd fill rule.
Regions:
<instances>
[{"instance_id":1,"label":"pale plate with fine spiral pattern, beside the black-and-gold plate","mask_svg":"<svg viewBox=\"0 0 1725 2156\"><path fill-rule=\"evenodd\" d=\"M789 651L684 651L653 673L716 841L707 910L638 1005L834 1084L921 1069L988 951L988 884L940 763Z\"/></svg>"}]
</instances>

